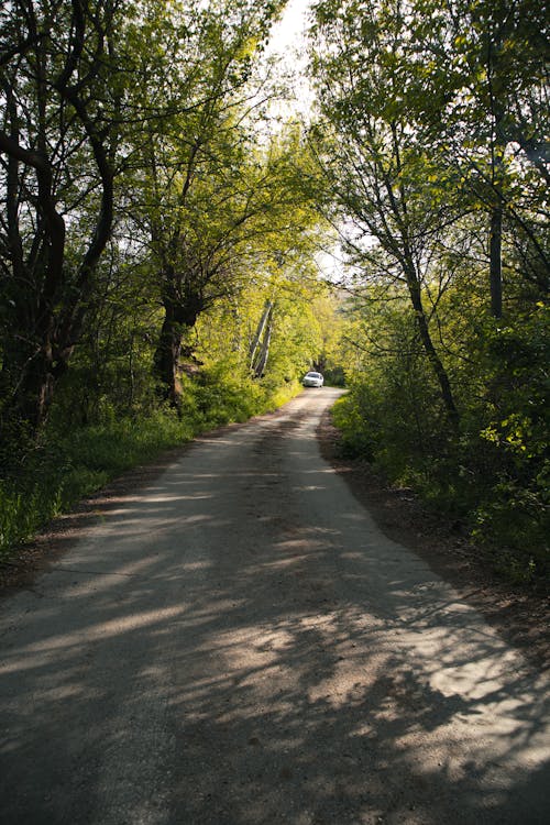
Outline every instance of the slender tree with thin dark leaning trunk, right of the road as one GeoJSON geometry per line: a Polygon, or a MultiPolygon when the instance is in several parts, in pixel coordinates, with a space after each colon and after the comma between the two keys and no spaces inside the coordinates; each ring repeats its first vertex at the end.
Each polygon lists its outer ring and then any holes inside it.
{"type": "Polygon", "coordinates": [[[432,164],[407,100],[408,23],[399,2],[321,0],[314,7],[311,72],[320,121],[312,129],[322,175],[362,268],[403,283],[449,420],[459,411],[438,352],[422,290],[450,206],[431,186],[432,164]]]}

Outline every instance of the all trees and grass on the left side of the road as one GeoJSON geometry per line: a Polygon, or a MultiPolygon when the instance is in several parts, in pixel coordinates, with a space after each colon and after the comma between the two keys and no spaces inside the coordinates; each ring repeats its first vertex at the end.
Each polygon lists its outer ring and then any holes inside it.
{"type": "Polygon", "coordinates": [[[311,160],[264,122],[283,6],[0,11],[1,557],[326,361],[311,160]]]}

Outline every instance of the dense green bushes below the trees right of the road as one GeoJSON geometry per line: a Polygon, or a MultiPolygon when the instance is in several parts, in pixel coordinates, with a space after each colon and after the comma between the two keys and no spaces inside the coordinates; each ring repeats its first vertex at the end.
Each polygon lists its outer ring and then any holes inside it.
{"type": "MultiPolygon", "coordinates": [[[[458,435],[437,411],[430,372],[413,352],[414,341],[408,351],[388,346],[392,333],[406,340],[406,318],[395,308],[382,317],[374,310],[363,315],[367,326],[353,321],[349,329],[362,346],[361,359],[349,360],[350,393],[333,413],[345,454],[372,462],[395,485],[413,487],[427,506],[461,525],[516,583],[544,580],[550,573],[548,309],[540,304],[506,326],[480,319],[475,333],[469,331],[468,363],[461,348],[449,358],[461,397],[458,435]]],[[[464,331],[452,315],[449,324],[454,334],[464,331]]]]}

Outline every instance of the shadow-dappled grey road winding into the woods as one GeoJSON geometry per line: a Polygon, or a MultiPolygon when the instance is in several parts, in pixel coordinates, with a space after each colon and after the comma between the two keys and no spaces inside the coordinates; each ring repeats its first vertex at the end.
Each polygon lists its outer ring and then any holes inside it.
{"type": "Polygon", "coordinates": [[[548,822],[548,674],[320,458],[198,440],[0,603],[2,825],[548,822]]]}

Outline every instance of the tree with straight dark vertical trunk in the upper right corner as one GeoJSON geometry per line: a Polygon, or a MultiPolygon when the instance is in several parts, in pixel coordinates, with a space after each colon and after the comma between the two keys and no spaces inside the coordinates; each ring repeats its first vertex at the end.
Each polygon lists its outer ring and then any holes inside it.
{"type": "Polygon", "coordinates": [[[541,267],[548,273],[539,211],[549,180],[544,9],[531,0],[417,0],[409,21],[416,121],[488,217],[491,312],[499,318],[508,230],[530,249],[524,277],[542,285],[541,267]]]}

